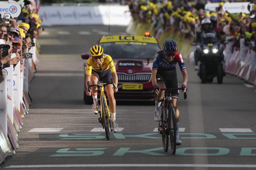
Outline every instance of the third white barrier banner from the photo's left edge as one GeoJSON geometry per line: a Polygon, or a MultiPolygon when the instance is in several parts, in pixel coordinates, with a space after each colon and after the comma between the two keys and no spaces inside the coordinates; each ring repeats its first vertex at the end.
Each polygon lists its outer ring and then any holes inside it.
{"type": "Polygon", "coordinates": [[[13,102],[15,101],[20,110],[20,61],[13,68],[13,102]]]}

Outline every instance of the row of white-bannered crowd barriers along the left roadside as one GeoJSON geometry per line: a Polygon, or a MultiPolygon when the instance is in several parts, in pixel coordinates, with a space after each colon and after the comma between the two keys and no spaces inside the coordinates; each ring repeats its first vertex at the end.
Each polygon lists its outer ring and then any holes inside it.
{"type": "MultiPolygon", "coordinates": [[[[36,39],[34,42],[36,44],[36,39]]],[[[0,164],[19,148],[18,133],[32,102],[29,86],[39,62],[38,51],[37,44],[31,47],[29,52],[33,57],[25,59],[25,70],[20,71],[20,62],[14,68],[11,65],[3,69],[4,81],[0,83],[0,164]],[[11,100],[7,99],[7,93],[11,100]]]]}

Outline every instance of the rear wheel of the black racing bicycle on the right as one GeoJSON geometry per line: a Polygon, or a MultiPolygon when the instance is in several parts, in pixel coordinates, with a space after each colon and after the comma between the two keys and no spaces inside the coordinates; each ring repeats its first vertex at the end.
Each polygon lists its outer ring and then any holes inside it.
{"type": "Polygon", "coordinates": [[[162,104],[162,113],[161,113],[161,125],[162,125],[162,140],[163,140],[163,146],[164,146],[164,152],[168,151],[168,145],[169,145],[169,130],[168,130],[168,109],[167,109],[167,102],[165,104],[162,104]]]}

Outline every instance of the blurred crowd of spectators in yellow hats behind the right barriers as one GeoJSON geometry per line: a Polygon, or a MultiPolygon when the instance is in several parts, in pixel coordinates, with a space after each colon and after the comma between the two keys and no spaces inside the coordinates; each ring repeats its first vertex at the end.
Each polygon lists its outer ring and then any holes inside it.
{"type": "MultiPolygon", "coordinates": [[[[228,37],[229,41],[234,42],[233,51],[239,50],[241,38],[245,38],[244,45],[256,50],[256,47],[251,45],[251,42],[256,39],[256,5],[248,14],[232,14],[223,11],[224,2],[219,2],[219,7],[215,11],[204,9],[205,4],[211,2],[202,0],[197,0],[196,3],[194,0],[129,0],[128,5],[132,18],[153,27],[155,32],[151,35],[155,37],[159,30],[172,29],[173,33],[179,31],[185,39],[195,40],[196,34],[201,30],[201,21],[208,18],[212,22],[212,29],[220,34],[221,39],[225,40],[228,37]]],[[[252,3],[256,4],[256,0],[253,0],[252,3]]]]}

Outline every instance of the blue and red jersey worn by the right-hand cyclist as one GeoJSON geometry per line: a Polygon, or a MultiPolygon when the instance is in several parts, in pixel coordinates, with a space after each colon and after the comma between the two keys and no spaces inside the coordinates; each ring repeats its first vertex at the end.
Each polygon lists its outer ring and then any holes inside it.
{"type": "Polygon", "coordinates": [[[158,70],[159,66],[162,67],[164,70],[176,70],[177,63],[179,63],[181,72],[186,71],[186,66],[180,53],[177,52],[174,59],[172,61],[168,61],[165,59],[164,52],[160,51],[156,53],[154,57],[152,70],[158,70]]]}

